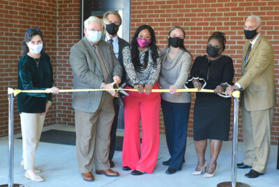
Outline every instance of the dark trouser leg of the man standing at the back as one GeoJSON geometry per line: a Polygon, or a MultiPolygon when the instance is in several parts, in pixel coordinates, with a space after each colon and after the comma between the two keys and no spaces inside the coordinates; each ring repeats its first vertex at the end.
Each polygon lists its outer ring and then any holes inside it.
{"type": "Polygon", "coordinates": [[[115,115],[114,115],[114,120],[112,122],[112,129],[110,131],[110,154],[109,154],[110,161],[112,160],[112,158],[114,156],[115,146],[116,146],[116,129],[117,129],[119,107],[120,107],[118,104],[117,98],[114,98],[113,104],[114,104],[115,115]]]}

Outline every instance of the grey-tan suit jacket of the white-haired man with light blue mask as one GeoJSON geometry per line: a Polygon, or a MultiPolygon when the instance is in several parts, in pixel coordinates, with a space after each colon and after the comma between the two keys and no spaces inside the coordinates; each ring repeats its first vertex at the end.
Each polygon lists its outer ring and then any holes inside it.
{"type": "MultiPolygon", "coordinates": [[[[98,46],[111,81],[114,75],[121,77],[123,68],[116,59],[110,44],[100,40],[98,46]]],[[[105,82],[96,52],[85,36],[70,49],[70,65],[73,70],[74,89],[99,89],[105,82]]],[[[100,105],[101,97],[101,91],[73,92],[73,108],[94,113],[100,105]]]]}

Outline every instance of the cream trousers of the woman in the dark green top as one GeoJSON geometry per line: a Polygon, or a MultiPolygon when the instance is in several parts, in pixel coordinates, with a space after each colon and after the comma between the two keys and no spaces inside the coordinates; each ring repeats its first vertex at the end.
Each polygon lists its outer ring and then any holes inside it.
{"type": "Polygon", "coordinates": [[[20,114],[20,122],[22,127],[22,158],[25,170],[34,169],[36,150],[38,148],[44,121],[45,114],[20,114]]]}

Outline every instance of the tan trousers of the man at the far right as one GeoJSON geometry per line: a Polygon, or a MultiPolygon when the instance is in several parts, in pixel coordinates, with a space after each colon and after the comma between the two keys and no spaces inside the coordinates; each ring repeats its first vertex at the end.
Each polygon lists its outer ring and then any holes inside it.
{"type": "Polygon", "coordinates": [[[252,166],[252,170],[265,173],[271,146],[273,108],[263,111],[246,111],[244,102],[241,107],[246,156],[243,163],[252,166]]]}

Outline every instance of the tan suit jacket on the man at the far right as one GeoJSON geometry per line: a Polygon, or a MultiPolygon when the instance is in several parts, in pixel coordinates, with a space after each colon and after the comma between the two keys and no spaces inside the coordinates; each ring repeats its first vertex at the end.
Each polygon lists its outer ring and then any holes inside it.
{"type": "Polygon", "coordinates": [[[259,35],[245,63],[249,42],[250,40],[247,40],[243,47],[241,79],[237,82],[244,89],[243,101],[246,110],[262,111],[275,106],[273,48],[262,34],[259,35]]]}

